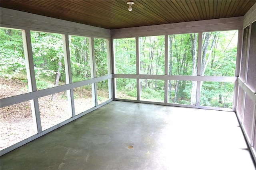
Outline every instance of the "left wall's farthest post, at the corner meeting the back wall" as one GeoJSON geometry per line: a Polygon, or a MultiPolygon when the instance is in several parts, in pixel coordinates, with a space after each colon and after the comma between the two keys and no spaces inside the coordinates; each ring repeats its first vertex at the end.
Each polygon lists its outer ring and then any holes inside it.
{"type": "MultiPolygon", "coordinates": [[[[112,44],[112,41],[110,41],[110,39],[107,39],[106,41],[107,43],[107,62],[108,62],[108,74],[112,74],[112,62],[111,62],[111,58],[110,56],[113,56],[111,55],[111,44],[112,44]]],[[[108,79],[108,99],[112,99],[113,96],[112,96],[112,80],[111,79],[108,79]]]]}

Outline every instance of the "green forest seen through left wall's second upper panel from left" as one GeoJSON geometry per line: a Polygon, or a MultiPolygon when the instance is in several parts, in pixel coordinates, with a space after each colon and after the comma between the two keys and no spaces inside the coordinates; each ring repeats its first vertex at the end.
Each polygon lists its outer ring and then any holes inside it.
{"type": "Polygon", "coordinates": [[[31,43],[37,90],[65,84],[62,35],[31,31],[31,43]]]}

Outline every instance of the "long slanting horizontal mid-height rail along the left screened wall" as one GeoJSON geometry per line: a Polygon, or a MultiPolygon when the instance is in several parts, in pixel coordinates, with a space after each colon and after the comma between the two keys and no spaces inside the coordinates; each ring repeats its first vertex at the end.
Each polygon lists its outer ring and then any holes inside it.
{"type": "Polygon", "coordinates": [[[112,74],[106,75],[106,76],[102,76],[102,77],[97,77],[97,78],[92,78],[89,80],[83,80],[80,82],[74,82],[74,83],[70,83],[70,84],[65,84],[62,86],[57,86],[57,87],[52,87],[52,88],[47,88],[47,89],[43,89],[43,90],[38,90],[36,92],[29,92],[29,93],[25,93],[25,94],[20,94],[17,96],[11,96],[8,98],[2,98],[0,99],[0,107],[6,107],[6,106],[10,106],[12,104],[18,104],[21,102],[26,102],[28,100],[33,100],[36,98],[40,98],[43,96],[48,96],[54,93],[59,93],[59,92],[63,92],[66,90],[70,90],[70,89],[74,89],[74,88],[78,88],[81,86],[86,86],[88,84],[93,84],[93,83],[97,83],[103,80],[108,80],[110,78],[113,78],[112,74]]]}

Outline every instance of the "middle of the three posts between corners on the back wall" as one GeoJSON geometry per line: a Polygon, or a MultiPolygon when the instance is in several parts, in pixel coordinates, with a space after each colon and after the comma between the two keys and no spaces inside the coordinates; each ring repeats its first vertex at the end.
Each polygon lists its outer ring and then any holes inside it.
{"type": "MultiPolygon", "coordinates": [[[[164,75],[168,75],[168,35],[164,35],[164,75]]],[[[168,103],[168,80],[164,80],[164,103],[168,103]]]]}

